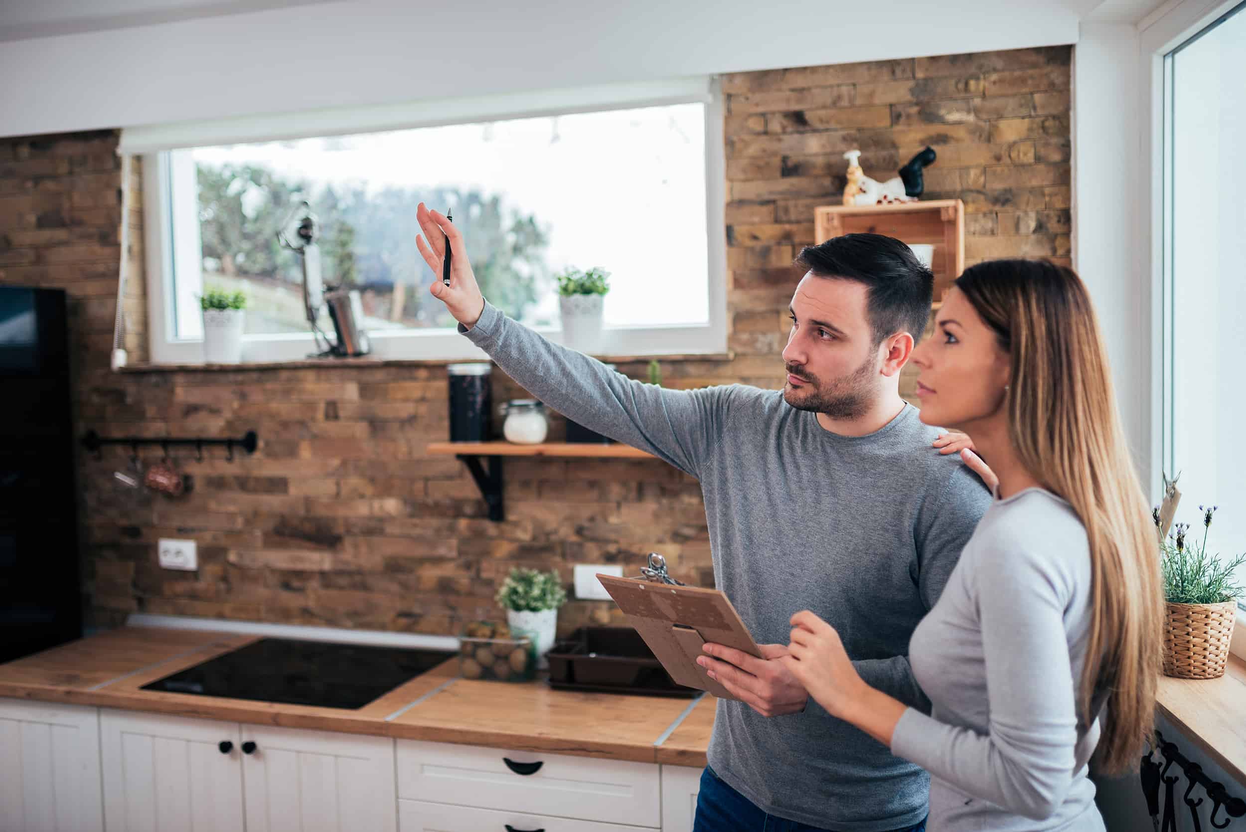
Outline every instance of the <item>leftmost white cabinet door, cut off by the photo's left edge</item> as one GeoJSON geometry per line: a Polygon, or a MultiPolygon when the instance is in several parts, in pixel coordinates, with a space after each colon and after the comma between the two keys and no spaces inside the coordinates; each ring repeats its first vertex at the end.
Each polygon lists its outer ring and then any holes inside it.
{"type": "Polygon", "coordinates": [[[0,699],[0,830],[103,830],[96,709],[0,699]]]}

